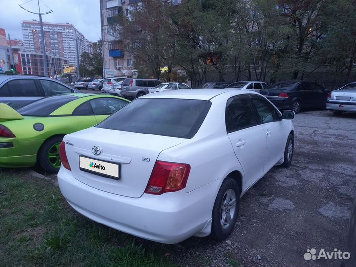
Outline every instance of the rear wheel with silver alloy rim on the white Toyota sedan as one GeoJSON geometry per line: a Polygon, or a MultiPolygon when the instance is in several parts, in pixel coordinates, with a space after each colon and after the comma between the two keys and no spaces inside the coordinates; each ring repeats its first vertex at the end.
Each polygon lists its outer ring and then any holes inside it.
{"type": "Polygon", "coordinates": [[[233,178],[226,178],[220,186],[212,212],[211,236],[223,241],[231,234],[240,209],[240,189],[233,178]],[[229,201],[227,201],[229,199],[229,201]],[[229,219],[230,218],[230,219],[229,219]]]}

